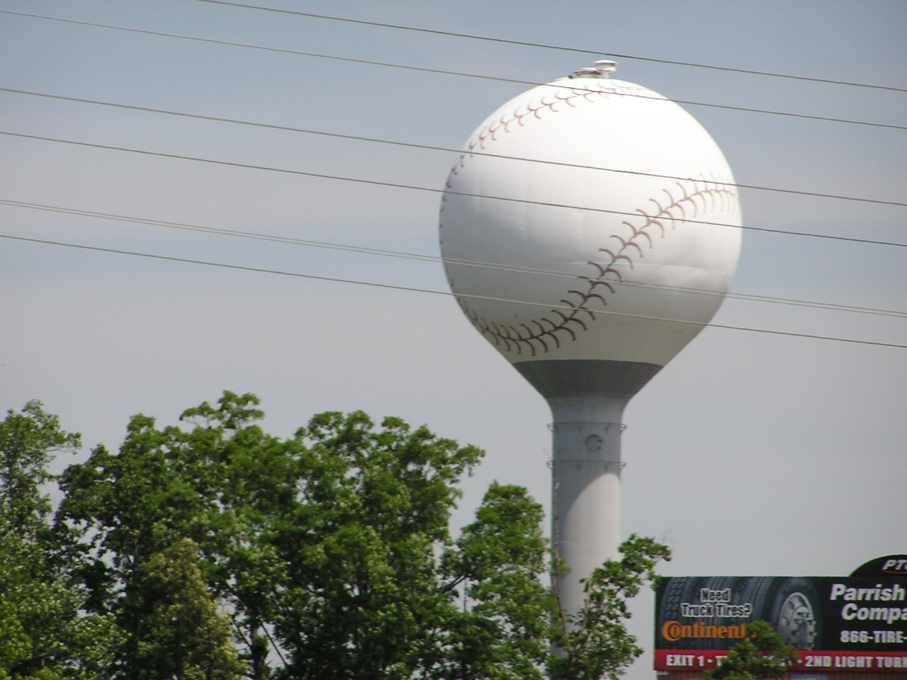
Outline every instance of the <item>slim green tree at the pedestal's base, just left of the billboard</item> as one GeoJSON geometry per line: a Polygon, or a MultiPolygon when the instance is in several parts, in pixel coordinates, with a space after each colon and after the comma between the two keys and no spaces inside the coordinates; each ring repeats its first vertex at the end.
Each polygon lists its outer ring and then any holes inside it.
{"type": "Polygon", "coordinates": [[[553,636],[560,653],[551,657],[551,680],[617,680],[642,648],[627,631],[629,598],[639,588],[658,585],[655,567],[670,550],[636,534],[621,544],[621,559],[609,559],[585,580],[586,602],[579,613],[562,617],[553,636]]]}

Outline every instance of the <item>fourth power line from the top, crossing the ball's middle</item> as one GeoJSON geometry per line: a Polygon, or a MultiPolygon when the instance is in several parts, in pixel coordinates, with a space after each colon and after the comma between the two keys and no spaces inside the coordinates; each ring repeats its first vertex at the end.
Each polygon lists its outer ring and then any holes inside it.
{"type": "MultiPolygon", "coordinates": [[[[289,170],[287,168],[274,168],[273,166],[268,165],[254,165],[251,163],[239,163],[232,160],[216,160],[216,159],[206,159],[200,158],[198,156],[184,156],[177,153],[166,153],[164,151],[145,151],[142,149],[130,149],[128,147],[121,146],[112,146],[110,144],[97,144],[89,141],[74,141],[74,140],[62,140],[56,139],[53,137],[43,137],[41,135],[34,134],[24,134],[22,132],[9,132],[9,131],[0,131],[0,135],[6,135],[8,137],[18,137],[25,140],[40,140],[40,141],[51,141],[59,144],[72,144],[73,146],[83,146],[91,149],[104,149],[108,151],[126,151],[129,153],[137,153],[143,156],[155,156],[158,158],[168,158],[174,160],[193,160],[200,163],[210,163],[212,165],[222,165],[230,168],[244,168],[247,170],[267,170],[269,172],[280,172],[282,174],[288,175],[297,175],[299,177],[314,177],[321,180],[336,180],[336,181],[345,181],[353,182],[356,184],[370,184],[376,187],[388,187],[394,189],[409,189],[413,191],[427,191],[435,194],[446,193],[452,196],[465,196],[474,199],[489,199],[489,200],[502,200],[512,203],[525,203],[528,205],[538,205],[538,206],[547,206],[549,208],[568,208],[575,210],[587,210],[589,212],[600,212],[606,213],[609,215],[626,215],[629,217],[639,217],[639,213],[633,212],[623,212],[621,210],[608,210],[603,208],[584,208],[581,206],[571,206],[564,203],[551,203],[541,200],[529,200],[529,199],[511,199],[503,196],[483,196],[482,194],[473,194],[467,193],[464,191],[451,191],[449,189],[436,189],[434,187],[419,187],[414,184],[400,184],[397,182],[387,182],[387,181],[378,181],[378,180],[363,180],[356,177],[344,177],[342,175],[327,175],[322,172],[307,172],[306,170],[289,170]]],[[[892,246],[896,248],[907,248],[907,243],[896,243],[894,241],[879,241],[873,240],[870,238],[853,238],[853,237],[844,237],[844,236],[832,236],[831,234],[811,234],[805,231],[790,231],[787,229],[770,229],[766,227],[752,227],[748,225],[736,225],[736,224],[727,224],[724,222],[710,222],[704,219],[685,219],[684,221],[690,224],[705,224],[714,227],[731,227],[731,228],[741,228],[748,231],[760,231],[766,234],[784,234],[786,236],[802,236],[808,238],[826,238],[834,241],[847,241],[850,243],[863,243],[873,246],[892,246]]]]}

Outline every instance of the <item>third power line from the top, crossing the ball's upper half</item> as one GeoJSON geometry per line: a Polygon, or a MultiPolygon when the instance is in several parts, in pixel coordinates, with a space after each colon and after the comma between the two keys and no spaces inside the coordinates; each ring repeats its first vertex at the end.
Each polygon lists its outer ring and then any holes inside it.
{"type": "MultiPolygon", "coordinates": [[[[124,109],[127,111],[161,113],[161,114],[165,114],[165,115],[178,116],[180,118],[190,118],[193,120],[200,120],[200,121],[227,122],[227,123],[231,123],[231,124],[235,124],[235,125],[245,125],[245,126],[249,126],[249,127],[263,128],[263,129],[267,129],[267,130],[300,132],[303,134],[319,135],[322,137],[331,137],[331,138],[341,139],[341,140],[369,141],[369,142],[374,142],[376,144],[387,144],[387,145],[391,145],[391,146],[406,147],[408,149],[420,149],[420,150],[424,150],[424,151],[444,151],[444,152],[449,152],[449,153],[463,152],[463,150],[461,150],[461,149],[453,149],[452,147],[434,146],[431,144],[416,144],[416,143],[407,142],[407,141],[384,140],[384,139],[379,139],[379,138],[375,138],[375,137],[364,137],[361,135],[342,134],[340,132],[327,132],[327,131],[321,131],[321,130],[311,130],[311,129],[307,129],[307,128],[297,128],[297,127],[292,127],[289,125],[276,125],[276,124],[264,123],[264,122],[243,121],[243,120],[239,120],[239,119],[235,119],[235,118],[224,118],[224,117],[220,117],[220,116],[210,116],[210,115],[203,115],[203,114],[198,114],[198,113],[186,113],[186,112],[179,112],[179,111],[171,111],[169,109],[157,109],[157,108],[153,108],[150,106],[122,104],[122,103],[118,103],[118,102],[104,102],[104,101],[95,100],[95,99],[83,99],[81,97],[67,97],[62,94],[48,94],[46,92],[31,92],[28,90],[16,90],[16,89],[10,88],[10,87],[0,87],[0,92],[11,92],[14,94],[24,94],[24,95],[28,95],[28,96],[34,96],[34,97],[44,97],[47,99],[54,99],[54,100],[63,101],[63,102],[79,102],[79,103],[86,103],[86,104],[96,104],[99,106],[109,106],[112,108],[124,109]]],[[[471,156],[487,156],[489,158],[497,158],[497,159],[502,159],[502,160],[522,160],[525,162],[539,163],[541,165],[557,165],[557,166],[561,166],[564,168],[577,168],[580,170],[602,170],[602,171],[606,171],[606,172],[617,172],[617,173],[629,174],[629,175],[639,175],[639,176],[643,176],[643,177],[658,177],[658,178],[664,178],[666,180],[692,180],[692,178],[688,178],[688,177],[677,177],[674,175],[659,175],[654,172],[641,172],[639,170],[618,170],[616,168],[600,168],[598,166],[580,165],[580,164],[576,164],[576,163],[561,163],[561,162],[557,162],[555,160],[540,160],[540,159],[531,159],[531,158],[521,158],[519,156],[504,156],[501,154],[489,153],[487,151],[469,151],[469,154],[471,156]]],[[[858,201],[858,202],[862,202],[862,203],[872,203],[875,205],[897,206],[897,207],[901,207],[901,208],[907,208],[907,203],[902,203],[902,202],[896,201],[896,200],[865,199],[865,198],[855,197],[855,196],[843,196],[841,194],[828,194],[828,193],[821,193],[821,192],[817,192],[817,191],[804,191],[804,190],[800,190],[800,189],[781,189],[778,187],[765,187],[765,186],[760,186],[760,185],[756,185],[756,184],[739,184],[739,183],[733,183],[733,182],[722,182],[722,181],[717,181],[717,180],[714,181],[713,183],[720,185],[720,186],[725,186],[725,187],[736,187],[737,189],[756,189],[756,190],[760,190],[760,191],[773,191],[776,193],[793,194],[795,196],[807,196],[807,197],[819,198],[819,199],[852,200],[852,201],[858,201]]]]}

